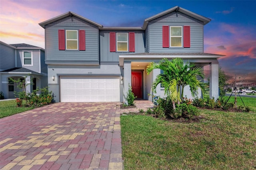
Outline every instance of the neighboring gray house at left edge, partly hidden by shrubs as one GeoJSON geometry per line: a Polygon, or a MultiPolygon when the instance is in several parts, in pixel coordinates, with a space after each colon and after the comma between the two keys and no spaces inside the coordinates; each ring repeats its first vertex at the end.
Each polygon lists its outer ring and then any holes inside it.
{"type": "Polygon", "coordinates": [[[5,99],[15,98],[14,91],[20,91],[10,78],[22,80],[26,77],[27,84],[32,79],[33,84],[26,86],[27,92],[47,86],[44,53],[44,49],[33,45],[8,45],[0,41],[0,91],[4,93],[5,99]]]}

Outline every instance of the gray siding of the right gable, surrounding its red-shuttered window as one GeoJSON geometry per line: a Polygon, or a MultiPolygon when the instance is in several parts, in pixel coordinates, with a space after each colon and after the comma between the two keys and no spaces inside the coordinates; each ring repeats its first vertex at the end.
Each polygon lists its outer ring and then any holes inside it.
{"type": "MultiPolygon", "coordinates": [[[[150,53],[203,53],[204,52],[204,25],[181,12],[171,12],[148,23],[150,53]],[[190,26],[190,48],[183,47],[162,47],[162,26],[190,26]]],[[[169,38],[170,39],[170,38],[169,38]]]]}

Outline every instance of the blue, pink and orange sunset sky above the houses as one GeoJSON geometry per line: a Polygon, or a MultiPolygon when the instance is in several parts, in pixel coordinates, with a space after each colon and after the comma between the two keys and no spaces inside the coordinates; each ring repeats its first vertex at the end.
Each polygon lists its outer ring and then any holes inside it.
{"type": "Polygon", "coordinates": [[[210,18],[204,26],[204,52],[218,59],[229,76],[256,81],[256,0],[0,0],[0,41],[44,48],[38,25],[68,11],[105,27],[141,27],[146,18],[180,6],[210,18]]]}

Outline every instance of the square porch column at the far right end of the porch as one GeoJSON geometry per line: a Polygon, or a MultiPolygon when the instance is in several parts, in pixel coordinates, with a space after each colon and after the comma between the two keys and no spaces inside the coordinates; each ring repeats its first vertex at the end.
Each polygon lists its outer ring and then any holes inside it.
{"type": "Polygon", "coordinates": [[[210,63],[210,98],[219,98],[219,63],[210,63]]]}

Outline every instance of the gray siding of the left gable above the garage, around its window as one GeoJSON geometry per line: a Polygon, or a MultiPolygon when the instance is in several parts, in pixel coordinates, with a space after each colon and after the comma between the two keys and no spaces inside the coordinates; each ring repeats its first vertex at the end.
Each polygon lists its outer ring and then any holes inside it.
{"type": "MultiPolygon", "coordinates": [[[[99,30],[96,25],[76,17],[66,17],[45,26],[46,62],[51,61],[99,61],[99,30]],[[58,30],[85,30],[85,51],[59,50],[58,30]]],[[[50,63],[49,63],[50,64],[50,63]]]]}

